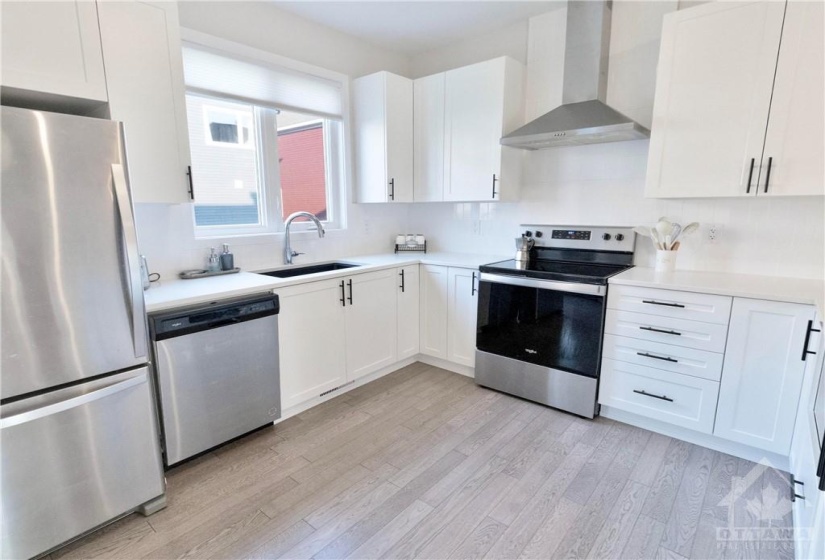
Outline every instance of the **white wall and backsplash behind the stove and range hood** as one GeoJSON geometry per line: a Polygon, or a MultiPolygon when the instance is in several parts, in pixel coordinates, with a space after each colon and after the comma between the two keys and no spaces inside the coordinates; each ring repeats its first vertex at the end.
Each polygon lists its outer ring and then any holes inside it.
{"type": "MultiPolygon", "coordinates": [[[[613,3],[608,102],[645,125],[652,113],[661,18],[676,8],[675,0],[613,3]]],[[[553,70],[563,66],[559,16],[551,12],[531,18],[529,24],[527,100],[533,116],[560,100],[560,77],[553,70]]],[[[509,54],[505,44],[499,47],[499,52],[487,50],[484,57],[509,54]]],[[[459,45],[428,56],[453,60],[464,52],[459,45]]],[[[462,63],[480,60],[464,57],[462,63]]],[[[413,59],[413,68],[422,66],[413,59]]],[[[414,204],[408,227],[428,235],[435,250],[510,255],[520,223],[633,226],[652,224],[666,215],[704,225],[700,233],[685,239],[679,268],[822,277],[822,197],[646,199],[647,151],[648,141],[642,140],[529,152],[520,202],[414,204]],[[705,236],[710,223],[722,226],[715,243],[705,236]]],[[[642,266],[653,265],[653,250],[646,240],[640,240],[636,260],[642,266]]]]}

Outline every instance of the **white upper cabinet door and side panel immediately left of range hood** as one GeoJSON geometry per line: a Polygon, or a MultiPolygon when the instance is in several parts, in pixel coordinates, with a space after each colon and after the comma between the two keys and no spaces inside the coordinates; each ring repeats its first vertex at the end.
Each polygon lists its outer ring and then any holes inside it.
{"type": "Polygon", "coordinates": [[[515,200],[522,151],[501,137],[524,120],[524,67],[500,57],[446,73],[444,200],[515,200]]]}

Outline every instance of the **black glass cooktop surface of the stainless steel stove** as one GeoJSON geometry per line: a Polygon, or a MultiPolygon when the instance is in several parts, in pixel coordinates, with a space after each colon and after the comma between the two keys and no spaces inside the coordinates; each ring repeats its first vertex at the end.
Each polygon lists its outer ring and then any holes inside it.
{"type": "Polygon", "coordinates": [[[579,282],[583,284],[607,284],[607,279],[630,265],[591,264],[581,262],[534,259],[525,268],[515,259],[483,265],[481,272],[506,274],[508,276],[526,276],[542,280],[560,282],[579,282]]]}

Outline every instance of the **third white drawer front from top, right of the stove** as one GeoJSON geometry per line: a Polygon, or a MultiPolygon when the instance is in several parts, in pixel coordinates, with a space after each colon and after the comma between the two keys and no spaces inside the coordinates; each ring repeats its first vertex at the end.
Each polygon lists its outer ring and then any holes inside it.
{"type": "Polygon", "coordinates": [[[724,354],[613,334],[604,335],[605,358],[664,369],[710,381],[722,378],[724,354]]]}

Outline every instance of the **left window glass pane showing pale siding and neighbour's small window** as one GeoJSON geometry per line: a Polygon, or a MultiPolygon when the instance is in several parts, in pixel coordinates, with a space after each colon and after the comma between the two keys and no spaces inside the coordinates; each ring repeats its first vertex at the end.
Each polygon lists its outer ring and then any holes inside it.
{"type": "Polygon", "coordinates": [[[261,193],[251,105],[186,96],[195,225],[261,224],[261,193]]]}

